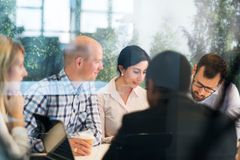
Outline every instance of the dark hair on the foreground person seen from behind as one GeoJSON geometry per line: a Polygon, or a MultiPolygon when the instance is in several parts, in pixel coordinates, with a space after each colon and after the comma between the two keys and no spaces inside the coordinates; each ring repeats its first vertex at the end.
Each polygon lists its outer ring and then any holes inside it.
{"type": "Polygon", "coordinates": [[[164,51],[150,62],[146,79],[151,80],[154,87],[173,92],[187,92],[190,86],[191,66],[182,54],[164,51]]]}

